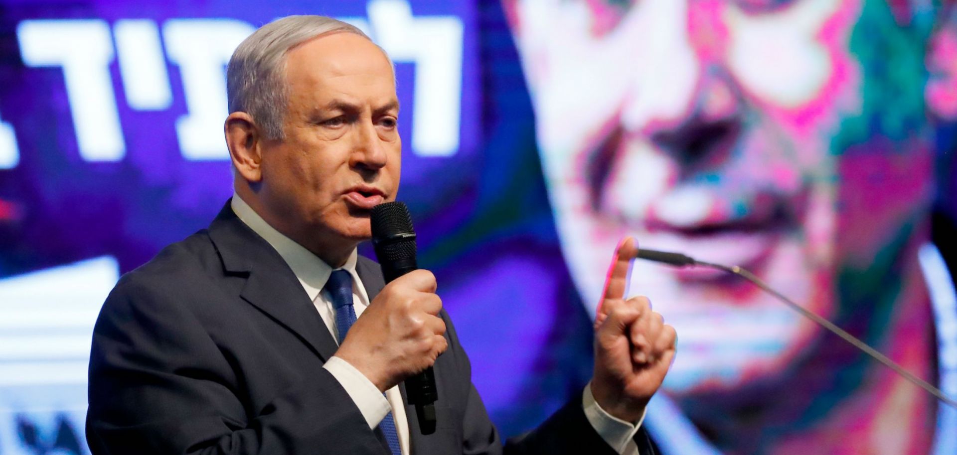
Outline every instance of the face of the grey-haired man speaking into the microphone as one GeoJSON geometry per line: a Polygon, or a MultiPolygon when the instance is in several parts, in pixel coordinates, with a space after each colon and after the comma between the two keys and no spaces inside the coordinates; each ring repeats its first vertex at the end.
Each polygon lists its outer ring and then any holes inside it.
{"type": "Polygon", "coordinates": [[[366,38],[322,35],[286,54],[285,138],[266,141],[261,197],[302,239],[359,242],[395,199],[401,141],[389,60],[366,38]]]}

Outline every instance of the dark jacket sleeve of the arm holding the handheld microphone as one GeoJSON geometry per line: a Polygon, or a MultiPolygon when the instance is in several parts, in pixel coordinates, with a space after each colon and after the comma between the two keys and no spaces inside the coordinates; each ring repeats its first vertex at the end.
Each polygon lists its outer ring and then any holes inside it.
{"type": "Polygon", "coordinates": [[[261,409],[248,408],[230,353],[189,311],[183,292],[140,281],[123,277],[94,329],[86,422],[92,453],[382,453],[325,370],[261,409]]]}

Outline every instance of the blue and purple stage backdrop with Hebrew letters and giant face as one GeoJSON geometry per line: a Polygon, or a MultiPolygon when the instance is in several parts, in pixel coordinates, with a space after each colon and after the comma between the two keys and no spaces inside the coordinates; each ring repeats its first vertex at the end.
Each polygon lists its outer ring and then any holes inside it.
{"type": "MultiPolygon", "coordinates": [[[[752,267],[957,395],[946,2],[0,0],[0,455],[89,452],[102,300],[232,195],[225,64],[294,13],[395,62],[399,199],[505,436],[580,396],[629,234],[752,267]]],[[[957,410],[753,290],[631,290],[679,331],[666,453],[957,453],[957,410]]]]}

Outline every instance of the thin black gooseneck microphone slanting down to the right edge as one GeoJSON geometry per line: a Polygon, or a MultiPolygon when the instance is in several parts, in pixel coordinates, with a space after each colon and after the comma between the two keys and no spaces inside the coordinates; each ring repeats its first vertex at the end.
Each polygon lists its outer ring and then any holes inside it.
{"type": "Polygon", "coordinates": [[[804,307],[798,305],[797,303],[794,303],[793,300],[786,297],[783,293],[774,291],[773,288],[768,286],[768,283],[765,283],[761,278],[758,278],[757,276],[754,275],[754,273],[751,273],[750,271],[746,271],[745,269],[742,269],[738,266],[723,266],[721,264],[712,264],[710,262],[699,261],[695,258],[686,256],[678,252],[657,251],[655,249],[638,249],[638,253],[634,257],[637,259],[645,259],[648,261],[660,262],[660,263],[668,264],[670,266],[675,266],[675,267],[702,266],[702,267],[707,267],[710,269],[716,269],[719,271],[727,271],[728,273],[733,273],[738,276],[741,276],[742,278],[745,278],[747,281],[750,281],[751,283],[753,283],[758,288],[761,288],[763,291],[768,292],[769,294],[777,297],[778,300],[781,300],[786,305],[788,305],[791,310],[794,310],[795,312],[803,315],[804,317],[811,319],[812,321],[817,323],[817,325],[831,331],[831,333],[835,334],[836,336],[840,336],[842,339],[854,345],[854,347],[859,349],[864,354],[867,354],[868,356],[873,357],[875,360],[878,360],[880,363],[883,363],[885,366],[887,366],[891,370],[894,370],[894,372],[897,373],[898,375],[901,375],[903,379],[907,379],[910,383],[918,387],[921,387],[928,394],[933,395],[935,398],[937,398],[937,400],[940,400],[953,408],[957,408],[957,401],[944,395],[944,392],[942,392],[941,389],[934,387],[933,385],[931,385],[929,382],[925,381],[924,379],[920,379],[917,376],[915,376],[913,373],[905,370],[901,365],[899,365],[894,360],[891,360],[889,357],[884,356],[883,354],[880,354],[880,352],[877,349],[874,349],[871,346],[869,346],[867,343],[861,341],[860,339],[857,339],[856,336],[848,334],[847,331],[845,331],[844,329],[837,327],[835,323],[806,310],[804,307]]]}

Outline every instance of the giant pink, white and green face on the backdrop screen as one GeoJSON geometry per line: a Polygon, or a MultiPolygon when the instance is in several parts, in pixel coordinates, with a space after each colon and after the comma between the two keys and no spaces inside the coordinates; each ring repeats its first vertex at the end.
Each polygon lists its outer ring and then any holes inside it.
{"type": "MultiPolygon", "coordinates": [[[[923,47],[900,32],[869,41],[898,25],[883,3],[520,0],[506,10],[563,248],[592,312],[610,252],[634,235],[745,267],[837,317],[842,269],[868,267],[925,205],[923,47]],[[916,59],[883,59],[895,45],[916,59]],[[898,83],[916,89],[880,93],[898,83]],[[885,115],[890,104],[901,112],[885,115]]],[[[817,335],[710,271],[636,263],[631,292],[680,334],[665,383],[675,393],[767,378],[817,335]]]]}

